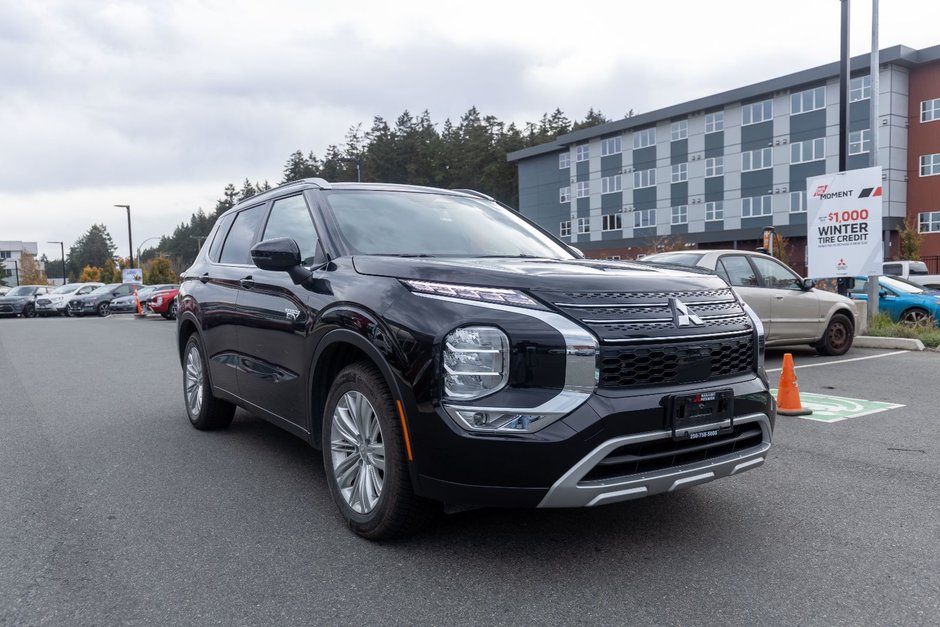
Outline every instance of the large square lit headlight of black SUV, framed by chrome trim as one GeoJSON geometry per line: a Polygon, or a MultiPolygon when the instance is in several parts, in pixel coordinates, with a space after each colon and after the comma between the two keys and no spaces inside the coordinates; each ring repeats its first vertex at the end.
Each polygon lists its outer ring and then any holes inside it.
{"type": "Polygon", "coordinates": [[[509,380],[509,338],[495,327],[463,327],[444,338],[444,396],[473,400],[509,380]]]}

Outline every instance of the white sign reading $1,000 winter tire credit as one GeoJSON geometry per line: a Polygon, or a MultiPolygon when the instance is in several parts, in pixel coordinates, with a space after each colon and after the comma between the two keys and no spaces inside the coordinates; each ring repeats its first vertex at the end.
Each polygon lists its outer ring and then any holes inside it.
{"type": "Polygon", "coordinates": [[[881,274],[881,167],[806,179],[811,277],[881,274]]]}

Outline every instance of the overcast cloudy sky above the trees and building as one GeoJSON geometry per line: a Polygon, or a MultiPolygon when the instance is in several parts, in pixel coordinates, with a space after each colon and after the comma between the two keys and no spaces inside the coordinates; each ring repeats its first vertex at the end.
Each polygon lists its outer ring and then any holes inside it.
{"type": "MultiPolygon", "coordinates": [[[[883,0],[881,47],[940,44],[940,2],[883,0]]],[[[0,0],[0,240],[127,254],[226,183],[280,181],[358,123],[471,106],[648,112],[837,61],[839,0],[0,0]]],[[[871,3],[852,3],[852,54],[871,3]]],[[[148,245],[154,244],[155,241],[148,245]]],[[[136,254],[136,251],[135,251],[136,254]]]]}

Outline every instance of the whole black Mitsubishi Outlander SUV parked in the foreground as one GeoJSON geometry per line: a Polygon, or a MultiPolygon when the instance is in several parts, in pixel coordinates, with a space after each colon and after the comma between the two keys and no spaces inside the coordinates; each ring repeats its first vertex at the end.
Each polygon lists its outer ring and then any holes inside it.
{"type": "Polygon", "coordinates": [[[189,419],[235,406],[323,451],[349,526],[593,506],[761,465],[763,329],[728,285],[581,258],[474,192],[290,183],[183,274],[189,419]]]}

